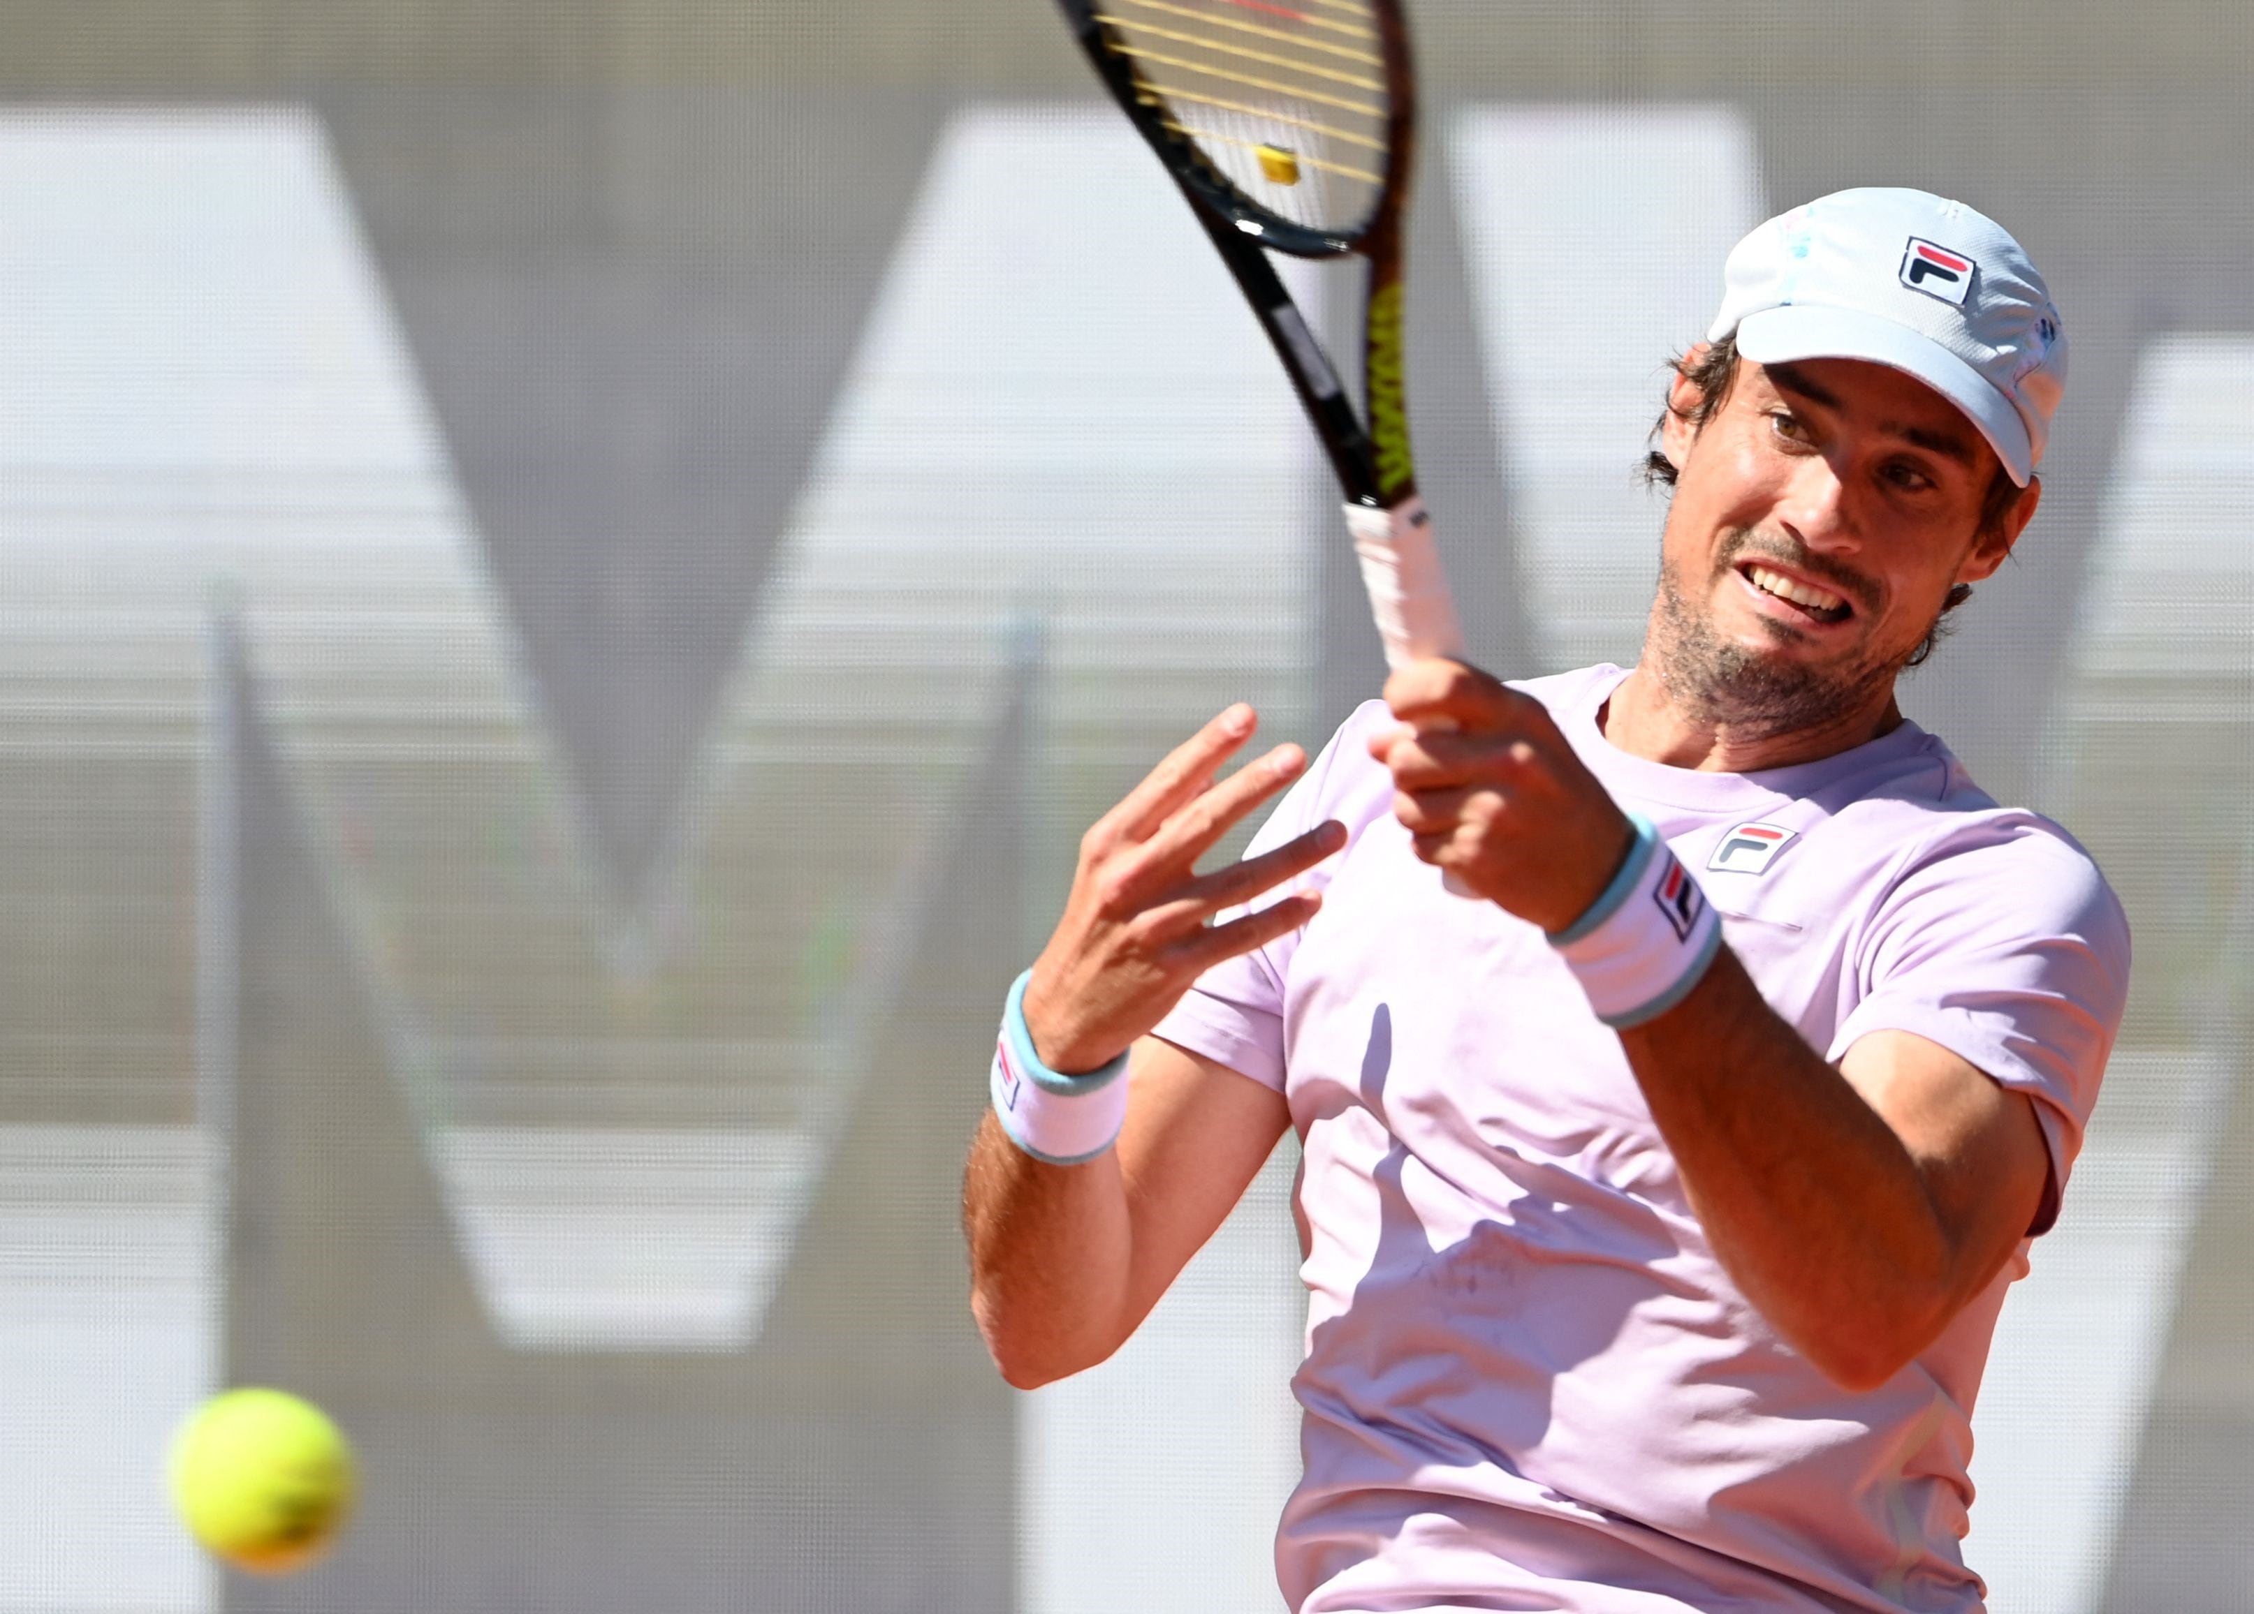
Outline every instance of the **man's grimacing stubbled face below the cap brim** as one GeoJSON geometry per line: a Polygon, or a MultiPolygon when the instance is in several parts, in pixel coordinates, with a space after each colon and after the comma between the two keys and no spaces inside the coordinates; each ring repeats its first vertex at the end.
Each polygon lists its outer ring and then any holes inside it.
{"type": "Polygon", "coordinates": [[[1995,449],[1945,397],[1857,358],[1738,363],[1693,428],[1677,381],[1677,467],[1652,660],[1713,721],[1794,733],[1884,710],[1956,584],[2002,566],[2035,512],[2029,487],[1979,532],[1995,449]]]}

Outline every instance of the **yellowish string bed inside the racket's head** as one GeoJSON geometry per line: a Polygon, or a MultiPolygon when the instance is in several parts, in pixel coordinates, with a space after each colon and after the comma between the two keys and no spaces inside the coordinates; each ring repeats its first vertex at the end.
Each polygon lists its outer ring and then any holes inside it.
{"type": "Polygon", "coordinates": [[[1249,201],[1357,234],[1384,192],[1386,56],[1370,0],[1098,0],[1143,101],[1249,201]]]}

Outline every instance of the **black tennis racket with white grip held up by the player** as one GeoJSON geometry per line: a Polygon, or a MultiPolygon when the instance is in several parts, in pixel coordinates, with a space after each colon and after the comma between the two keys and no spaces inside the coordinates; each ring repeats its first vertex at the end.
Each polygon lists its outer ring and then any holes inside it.
{"type": "Polygon", "coordinates": [[[1386,663],[1463,649],[1402,394],[1416,74],[1395,0],[1057,0],[1260,318],[1346,494],[1386,663]],[[1368,426],[1267,252],[1361,257],[1368,426]]]}

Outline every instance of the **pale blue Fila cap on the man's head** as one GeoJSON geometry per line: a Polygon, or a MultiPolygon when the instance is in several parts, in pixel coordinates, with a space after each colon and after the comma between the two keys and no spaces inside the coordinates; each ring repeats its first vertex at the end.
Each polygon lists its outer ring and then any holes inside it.
{"type": "Polygon", "coordinates": [[[1961,408],[2026,487],[2067,390],[2067,331],[2011,232],[1911,189],[1819,196],[1729,252],[1709,343],[1760,365],[1869,358],[1961,408]]]}

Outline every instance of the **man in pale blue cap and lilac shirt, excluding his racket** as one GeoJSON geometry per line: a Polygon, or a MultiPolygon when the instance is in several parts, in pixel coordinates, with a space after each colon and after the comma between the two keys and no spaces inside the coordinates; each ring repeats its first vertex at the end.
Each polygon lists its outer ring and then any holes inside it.
{"type": "Polygon", "coordinates": [[[1724,282],[1634,667],[1413,663],[1215,782],[1222,712],[1010,994],[965,1208],[1012,1384],[1111,1355],[1301,1136],[1301,1614],[1981,1607],[1972,1400],[2130,947],[1896,679],[2035,514],[2067,343],[1923,192],[1724,282]]]}

